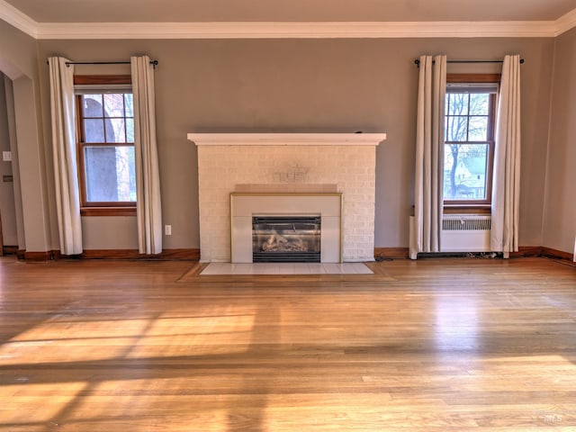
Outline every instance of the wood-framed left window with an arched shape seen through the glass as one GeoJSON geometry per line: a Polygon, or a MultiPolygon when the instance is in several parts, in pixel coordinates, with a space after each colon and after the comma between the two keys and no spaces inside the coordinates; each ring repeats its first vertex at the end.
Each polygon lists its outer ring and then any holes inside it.
{"type": "Polygon", "coordinates": [[[75,76],[81,212],[136,208],[130,76],[75,76]]]}

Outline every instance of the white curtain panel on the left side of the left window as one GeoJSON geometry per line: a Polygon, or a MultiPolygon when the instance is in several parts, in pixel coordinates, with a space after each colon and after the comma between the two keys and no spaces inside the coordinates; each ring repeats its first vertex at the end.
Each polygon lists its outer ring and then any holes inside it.
{"type": "Polygon", "coordinates": [[[60,254],[82,253],[82,226],[76,165],[76,103],[74,66],[67,58],[51,57],[49,63],[52,152],[58,212],[60,254]]]}

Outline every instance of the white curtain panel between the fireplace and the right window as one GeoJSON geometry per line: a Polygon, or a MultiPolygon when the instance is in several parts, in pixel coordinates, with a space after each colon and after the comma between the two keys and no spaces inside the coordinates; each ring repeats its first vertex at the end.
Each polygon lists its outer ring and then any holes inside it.
{"type": "Polygon", "coordinates": [[[443,208],[446,56],[421,56],[416,132],[417,252],[439,252],[443,208]]]}

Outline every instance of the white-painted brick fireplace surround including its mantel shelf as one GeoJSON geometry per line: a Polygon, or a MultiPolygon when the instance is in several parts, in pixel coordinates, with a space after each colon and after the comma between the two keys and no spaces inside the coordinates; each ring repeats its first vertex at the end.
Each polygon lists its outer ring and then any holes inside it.
{"type": "Polygon", "coordinates": [[[202,262],[232,257],[231,193],[278,193],[284,201],[291,193],[341,194],[339,257],[374,260],[375,148],[385,134],[189,133],[188,139],[198,146],[202,262]]]}

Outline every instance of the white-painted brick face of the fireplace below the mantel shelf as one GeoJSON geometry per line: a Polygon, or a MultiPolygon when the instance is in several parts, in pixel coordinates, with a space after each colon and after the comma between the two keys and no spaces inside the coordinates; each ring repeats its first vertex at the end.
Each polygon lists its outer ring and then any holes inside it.
{"type": "Polygon", "coordinates": [[[229,193],[240,184],[337,184],[344,195],[344,261],[374,260],[374,146],[198,147],[202,261],[230,259],[229,193]],[[305,176],[288,178],[294,166],[305,176]]]}

